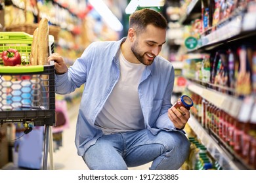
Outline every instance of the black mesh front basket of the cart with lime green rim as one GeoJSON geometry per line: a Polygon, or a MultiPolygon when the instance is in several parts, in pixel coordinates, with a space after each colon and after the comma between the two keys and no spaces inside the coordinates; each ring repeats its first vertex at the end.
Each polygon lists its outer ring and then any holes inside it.
{"type": "Polygon", "coordinates": [[[27,121],[55,125],[54,65],[0,67],[0,123],[27,121]]]}

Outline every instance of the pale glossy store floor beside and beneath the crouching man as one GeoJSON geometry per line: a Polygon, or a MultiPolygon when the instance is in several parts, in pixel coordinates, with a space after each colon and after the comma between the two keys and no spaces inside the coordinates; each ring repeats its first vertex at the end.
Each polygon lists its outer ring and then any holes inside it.
{"type": "MultiPolygon", "coordinates": [[[[88,170],[83,159],[77,155],[75,148],[75,125],[79,105],[74,105],[68,111],[70,127],[64,129],[62,134],[62,146],[53,154],[54,169],[58,170],[88,170]]],[[[48,158],[49,161],[49,158],[48,158]]],[[[148,170],[151,163],[130,168],[132,170],[148,170]]],[[[49,165],[49,162],[48,162],[49,165]]]]}

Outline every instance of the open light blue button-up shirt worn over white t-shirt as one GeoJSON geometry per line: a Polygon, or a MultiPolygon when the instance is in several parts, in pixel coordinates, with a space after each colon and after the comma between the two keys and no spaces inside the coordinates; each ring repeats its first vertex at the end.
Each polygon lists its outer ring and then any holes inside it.
{"type": "MultiPolygon", "coordinates": [[[[95,120],[119,80],[118,57],[121,42],[125,39],[93,42],[67,73],[56,75],[56,93],[59,94],[74,92],[75,88],[85,84],[75,134],[79,156],[83,156],[87,148],[102,136],[102,131],[95,126],[95,120]]],[[[167,116],[174,79],[173,65],[161,56],[156,56],[152,65],[148,65],[142,73],[138,87],[139,100],[145,126],[154,135],[161,129],[176,131],[167,116]]]]}

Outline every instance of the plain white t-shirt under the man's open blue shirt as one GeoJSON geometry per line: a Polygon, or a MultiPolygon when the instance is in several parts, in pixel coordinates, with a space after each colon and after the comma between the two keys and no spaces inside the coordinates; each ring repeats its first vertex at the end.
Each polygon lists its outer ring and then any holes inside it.
{"type": "Polygon", "coordinates": [[[120,51],[119,81],[96,118],[104,134],[144,129],[138,86],[146,65],[127,61],[120,51]]]}

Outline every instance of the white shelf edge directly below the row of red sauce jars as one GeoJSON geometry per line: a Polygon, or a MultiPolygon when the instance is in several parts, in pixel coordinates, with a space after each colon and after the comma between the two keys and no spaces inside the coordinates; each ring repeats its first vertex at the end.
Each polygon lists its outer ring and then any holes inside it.
{"type": "Polygon", "coordinates": [[[234,156],[228,154],[228,152],[222,148],[217,141],[205,129],[198,123],[194,116],[190,116],[188,125],[192,128],[194,133],[198,136],[198,139],[202,141],[202,144],[207,148],[211,156],[219,162],[219,165],[225,170],[240,170],[247,169],[239,161],[234,161],[234,156]]]}

